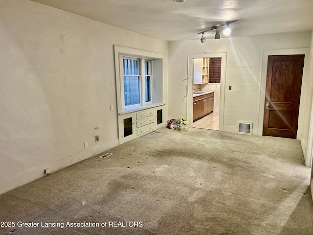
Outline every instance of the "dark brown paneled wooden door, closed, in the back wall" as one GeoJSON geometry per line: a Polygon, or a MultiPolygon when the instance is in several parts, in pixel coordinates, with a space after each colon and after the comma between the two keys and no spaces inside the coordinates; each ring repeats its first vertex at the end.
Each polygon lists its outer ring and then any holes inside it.
{"type": "Polygon", "coordinates": [[[304,55],[268,56],[263,135],[295,139],[304,55]]]}

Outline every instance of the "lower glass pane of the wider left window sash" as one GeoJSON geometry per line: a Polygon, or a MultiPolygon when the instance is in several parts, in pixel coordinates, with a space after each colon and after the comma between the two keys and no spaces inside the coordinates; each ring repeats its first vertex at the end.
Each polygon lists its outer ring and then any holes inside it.
{"type": "Polygon", "coordinates": [[[140,79],[139,76],[124,77],[125,106],[140,104],[140,79]]]}

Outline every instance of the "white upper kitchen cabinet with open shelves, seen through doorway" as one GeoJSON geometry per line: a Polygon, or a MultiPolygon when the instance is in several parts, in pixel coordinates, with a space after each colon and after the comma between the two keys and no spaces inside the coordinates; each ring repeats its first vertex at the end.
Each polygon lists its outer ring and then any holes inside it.
{"type": "Polygon", "coordinates": [[[210,58],[194,59],[194,84],[209,82],[209,60],[210,58]]]}

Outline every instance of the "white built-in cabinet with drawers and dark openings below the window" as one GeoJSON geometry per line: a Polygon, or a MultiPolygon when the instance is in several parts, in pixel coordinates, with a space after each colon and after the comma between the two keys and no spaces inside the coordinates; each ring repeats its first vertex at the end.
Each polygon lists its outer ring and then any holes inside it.
{"type": "Polygon", "coordinates": [[[162,109],[150,108],[119,115],[119,143],[149,133],[162,125],[162,109]]]}

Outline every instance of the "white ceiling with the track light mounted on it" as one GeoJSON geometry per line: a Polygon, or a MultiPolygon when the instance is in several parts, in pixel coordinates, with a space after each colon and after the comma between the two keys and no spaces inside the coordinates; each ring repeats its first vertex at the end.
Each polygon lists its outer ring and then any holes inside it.
{"type": "Polygon", "coordinates": [[[239,20],[233,37],[313,29],[313,0],[33,1],[166,41],[199,39],[198,32],[231,20],[239,20]]]}

